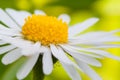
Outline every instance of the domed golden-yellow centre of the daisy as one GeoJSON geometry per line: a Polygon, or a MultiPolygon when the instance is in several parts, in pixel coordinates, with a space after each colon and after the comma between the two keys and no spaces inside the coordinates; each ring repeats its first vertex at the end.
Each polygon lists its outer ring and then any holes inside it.
{"type": "Polygon", "coordinates": [[[32,15],[25,19],[22,34],[25,39],[40,41],[42,45],[66,43],[68,25],[56,17],[32,15]]]}

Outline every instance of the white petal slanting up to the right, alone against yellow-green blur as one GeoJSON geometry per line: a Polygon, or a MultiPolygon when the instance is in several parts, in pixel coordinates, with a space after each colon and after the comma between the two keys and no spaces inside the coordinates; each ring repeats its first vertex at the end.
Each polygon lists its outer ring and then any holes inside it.
{"type": "Polygon", "coordinates": [[[99,20],[98,18],[90,18],[82,23],[71,26],[68,31],[69,36],[74,36],[78,33],[83,32],[84,30],[88,29],[90,26],[94,25],[98,20],[99,20]]]}

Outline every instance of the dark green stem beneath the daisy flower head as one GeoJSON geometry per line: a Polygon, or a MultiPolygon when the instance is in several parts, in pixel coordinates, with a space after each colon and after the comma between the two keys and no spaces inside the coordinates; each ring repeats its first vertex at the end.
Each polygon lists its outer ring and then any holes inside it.
{"type": "Polygon", "coordinates": [[[42,55],[39,56],[39,59],[33,68],[33,80],[44,80],[44,74],[42,69],[42,55]]]}

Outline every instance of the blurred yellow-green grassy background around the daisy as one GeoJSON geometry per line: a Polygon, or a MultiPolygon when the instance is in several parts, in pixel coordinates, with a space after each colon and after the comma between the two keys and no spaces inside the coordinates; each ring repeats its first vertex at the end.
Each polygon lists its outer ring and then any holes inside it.
{"type": "MultiPolygon", "coordinates": [[[[72,19],[70,25],[90,17],[99,17],[100,21],[87,31],[110,31],[120,28],[120,0],[0,0],[0,8],[14,8],[29,12],[41,9],[48,15],[54,16],[67,13],[72,19]]],[[[120,56],[120,49],[110,49],[109,51],[120,56]]],[[[22,58],[8,66],[4,66],[0,62],[0,80],[16,80],[15,73],[24,60],[22,58]]],[[[95,70],[103,80],[120,80],[120,62],[108,58],[101,62],[103,63],[102,68],[95,68],[95,70]]],[[[32,80],[31,74],[25,80],[32,80]]],[[[90,80],[84,73],[81,75],[83,80],[90,80]]],[[[70,78],[57,63],[53,73],[46,76],[45,80],[70,80],[70,78]]]]}

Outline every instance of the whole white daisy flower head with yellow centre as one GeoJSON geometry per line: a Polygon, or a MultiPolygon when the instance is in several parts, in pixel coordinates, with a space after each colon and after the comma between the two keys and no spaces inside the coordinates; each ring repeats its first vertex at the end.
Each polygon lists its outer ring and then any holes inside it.
{"type": "Polygon", "coordinates": [[[89,32],[77,35],[99,19],[90,18],[82,23],[70,26],[66,14],[58,18],[47,16],[43,11],[35,10],[34,14],[13,9],[0,9],[0,54],[3,64],[10,64],[22,56],[28,60],[17,73],[18,79],[24,79],[35,66],[39,55],[43,55],[43,72],[48,75],[53,70],[52,55],[57,58],[72,80],[81,80],[78,70],[86,73],[92,80],[101,80],[89,66],[101,67],[97,59],[103,57],[120,60],[103,48],[120,47],[120,37],[115,36],[119,30],[111,32],[89,32]],[[67,55],[66,55],[67,54],[67,55]],[[71,57],[72,60],[69,58],[71,57]]]}

